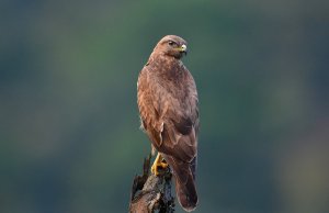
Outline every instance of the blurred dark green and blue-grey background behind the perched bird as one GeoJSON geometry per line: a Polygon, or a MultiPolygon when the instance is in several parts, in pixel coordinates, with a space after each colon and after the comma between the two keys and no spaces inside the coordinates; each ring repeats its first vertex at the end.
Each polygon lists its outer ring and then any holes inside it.
{"type": "Polygon", "coordinates": [[[0,212],[127,212],[150,152],[137,76],[177,34],[200,93],[195,212],[328,213],[328,2],[2,0],[0,212]]]}

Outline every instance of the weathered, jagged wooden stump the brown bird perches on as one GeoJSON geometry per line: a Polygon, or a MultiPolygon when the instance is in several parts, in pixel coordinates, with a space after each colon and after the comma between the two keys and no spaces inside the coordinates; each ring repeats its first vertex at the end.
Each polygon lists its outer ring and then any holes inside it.
{"type": "Polygon", "coordinates": [[[135,176],[129,213],[172,213],[174,212],[174,198],[171,195],[171,172],[169,167],[159,170],[160,175],[149,172],[150,159],[144,159],[143,176],[135,176]]]}

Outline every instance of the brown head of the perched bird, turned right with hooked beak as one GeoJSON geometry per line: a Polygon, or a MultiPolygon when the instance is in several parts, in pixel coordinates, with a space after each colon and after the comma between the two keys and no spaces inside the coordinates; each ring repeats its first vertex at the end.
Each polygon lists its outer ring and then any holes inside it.
{"type": "Polygon", "coordinates": [[[177,35],[167,35],[160,40],[154,52],[180,59],[188,54],[188,43],[177,35]]]}

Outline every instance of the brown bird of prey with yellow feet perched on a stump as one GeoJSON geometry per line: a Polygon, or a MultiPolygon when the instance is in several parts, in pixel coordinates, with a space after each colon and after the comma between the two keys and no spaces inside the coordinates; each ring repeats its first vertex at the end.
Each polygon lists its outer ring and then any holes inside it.
{"type": "Polygon", "coordinates": [[[181,61],[186,53],[183,38],[160,40],[139,72],[137,103],[141,128],[158,150],[151,171],[158,176],[159,168],[170,166],[178,200],[190,212],[197,204],[198,100],[194,79],[181,61]]]}

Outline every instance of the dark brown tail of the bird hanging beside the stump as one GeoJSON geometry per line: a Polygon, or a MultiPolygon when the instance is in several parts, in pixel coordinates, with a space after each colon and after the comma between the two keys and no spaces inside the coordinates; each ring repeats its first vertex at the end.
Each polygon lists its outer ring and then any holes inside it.
{"type": "Polygon", "coordinates": [[[196,158],[192,162],[185,162],[173,157],[167,157],[166,160],[173,170],[175,178],[175,193],[181,206],[191,212],[197,204],[197,193],[195,188],[195,167],[196,158]]]}

